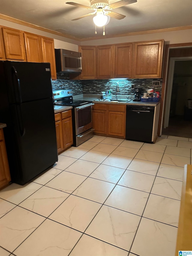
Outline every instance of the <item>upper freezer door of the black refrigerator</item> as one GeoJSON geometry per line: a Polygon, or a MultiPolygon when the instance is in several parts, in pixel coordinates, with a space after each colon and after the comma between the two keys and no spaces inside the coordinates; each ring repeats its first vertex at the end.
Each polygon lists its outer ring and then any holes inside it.
{"type": "Polygon", "coordinates": [[[5,61],[11,103],[52,97],[50,63],[5,61]]]}

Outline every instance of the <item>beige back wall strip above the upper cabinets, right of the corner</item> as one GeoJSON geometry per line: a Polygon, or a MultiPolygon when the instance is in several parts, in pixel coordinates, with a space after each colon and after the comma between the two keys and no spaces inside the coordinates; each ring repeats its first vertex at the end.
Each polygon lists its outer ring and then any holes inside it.
{"type": "Polygon", "coordinates": [[[82,41],[81,45],[119,44],[156,39],[164,39],[166,44],[190,43],[192,42],[192,29],[82,41]]]}

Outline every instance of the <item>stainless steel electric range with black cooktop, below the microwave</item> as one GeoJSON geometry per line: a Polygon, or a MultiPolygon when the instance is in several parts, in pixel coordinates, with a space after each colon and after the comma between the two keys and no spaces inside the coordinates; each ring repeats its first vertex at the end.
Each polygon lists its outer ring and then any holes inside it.
{"type": "Polygon", "coordinates": [[[53,100],[55,105],[73,107],[73,146],[79,146],[93,137],[92,101],[73,100],[71,89],[53,91],[53,100]]]}

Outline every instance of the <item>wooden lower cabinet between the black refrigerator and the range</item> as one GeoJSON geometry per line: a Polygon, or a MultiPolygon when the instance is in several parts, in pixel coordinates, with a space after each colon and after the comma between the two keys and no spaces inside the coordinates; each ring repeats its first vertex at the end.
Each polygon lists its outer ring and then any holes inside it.
{"type": "Polygon", "coordinates": [[[71,110],[55,114],[55,128],[58,154],[73,144],[71,110]]]}

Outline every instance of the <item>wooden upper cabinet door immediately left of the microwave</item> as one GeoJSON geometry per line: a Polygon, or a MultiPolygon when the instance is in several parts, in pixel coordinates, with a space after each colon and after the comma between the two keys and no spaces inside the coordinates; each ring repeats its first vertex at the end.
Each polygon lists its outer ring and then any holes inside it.
{"type": "Polygon", "coordinates": [[[49,62],[51,65],[51,78],[57,79],[56,66],[55,66],[55,49],[54,40],[51,38],[41,38],[43,50],[43,62],[49,62]]]}

